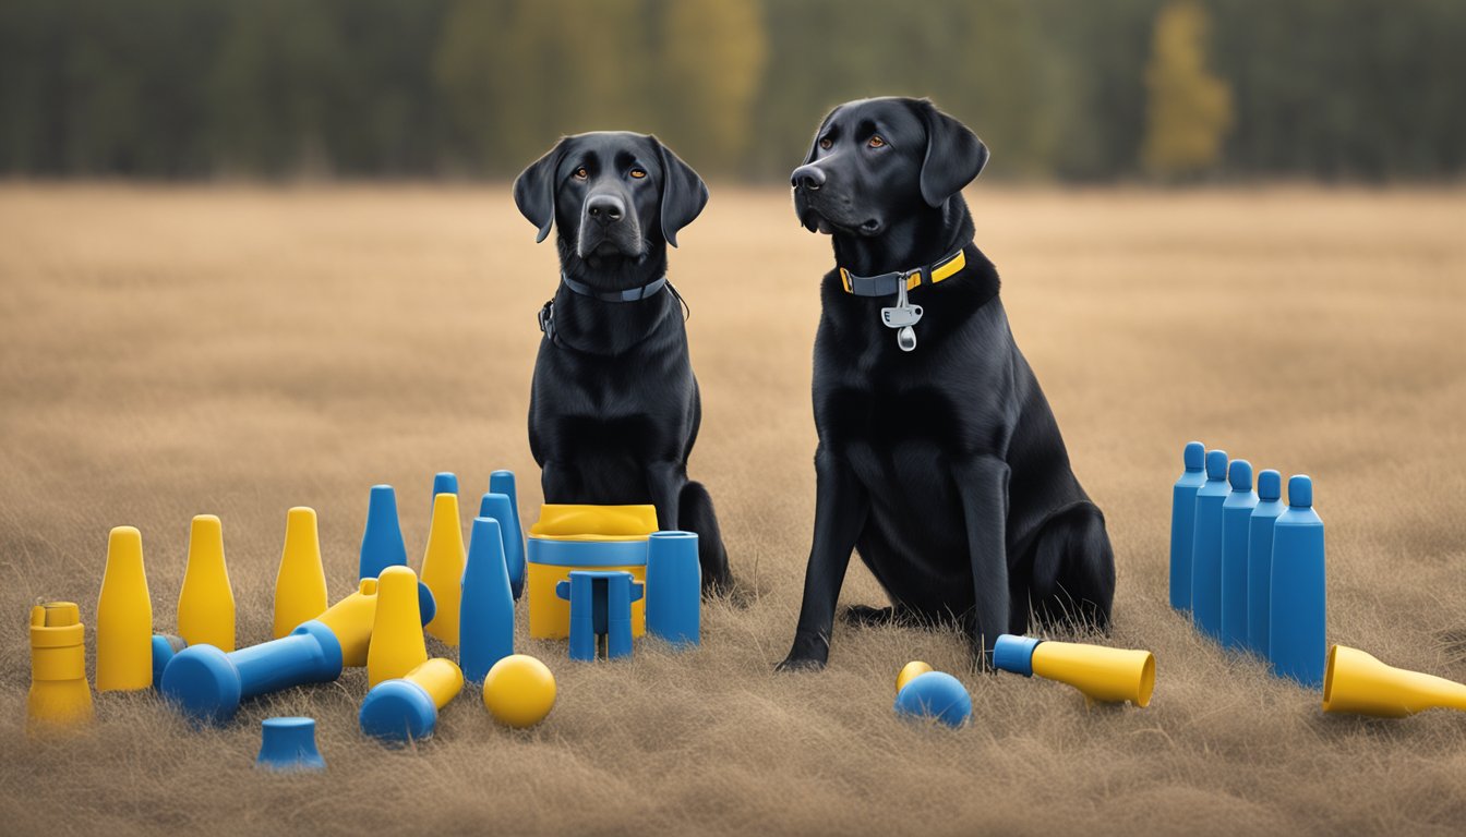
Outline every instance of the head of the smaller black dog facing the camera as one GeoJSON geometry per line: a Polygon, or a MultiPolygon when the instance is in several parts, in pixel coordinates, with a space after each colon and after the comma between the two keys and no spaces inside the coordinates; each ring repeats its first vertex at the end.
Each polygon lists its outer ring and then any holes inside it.
{"type": "Polygon", "coordinates": [[[560,230],[563,252],[581,259],[641,259],[708,202],[690,166],[655,136],[594,132],[566,136],[515,180],[515,204],[545,240],[560,230]]]}

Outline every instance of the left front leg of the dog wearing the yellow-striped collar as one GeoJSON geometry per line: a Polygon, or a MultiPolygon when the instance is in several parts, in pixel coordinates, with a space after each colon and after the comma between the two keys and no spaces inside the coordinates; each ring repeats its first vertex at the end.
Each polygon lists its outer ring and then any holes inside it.
{"type": "Polygon", "coordinates": [[[822,668],[830,658],[834,605],[868,510],[865,487],[850,466],[821,447],[815,453],[815,535],[805,569],[805,601],[795,646],[778,664],[780,671],[822,668]]]}

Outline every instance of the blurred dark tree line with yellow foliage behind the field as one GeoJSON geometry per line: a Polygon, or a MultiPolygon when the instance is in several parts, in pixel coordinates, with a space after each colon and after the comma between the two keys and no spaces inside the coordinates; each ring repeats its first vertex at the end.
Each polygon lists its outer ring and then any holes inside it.
{"type": "Polygon", "coordinates": [[[910,94],[997,176],[1457,177],[1463,44],[1459,0],[0,0],[0,173],[500,177],[604,128],[781,180],[910,94]]]}

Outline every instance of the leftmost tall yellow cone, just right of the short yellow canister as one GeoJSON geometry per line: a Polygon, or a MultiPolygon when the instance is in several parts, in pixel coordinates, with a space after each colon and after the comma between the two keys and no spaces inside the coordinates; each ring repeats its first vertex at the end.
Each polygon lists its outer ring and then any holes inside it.
{"type": "Polygon", "coordinates": [[[107,569],[97,598],[97,690],[152,687],[152,600],[142,570],[142,534],[117,526],[107,537],[107,569]]]}

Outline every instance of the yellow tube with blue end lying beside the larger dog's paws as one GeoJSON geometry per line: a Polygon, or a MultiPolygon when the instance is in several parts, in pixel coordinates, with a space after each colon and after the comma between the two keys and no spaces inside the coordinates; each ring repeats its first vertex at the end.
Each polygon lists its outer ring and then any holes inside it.
{"type": "Polygon", "coordinates": [[[1155,689],[1155,655],[1149,651],[1045,642],[1004,633],[992,646],[992,664],[1025,677],[1038,674],[1069,683],[1083,692],[1088,702],[1130,701],[1146,707],[1155,689]]]}

